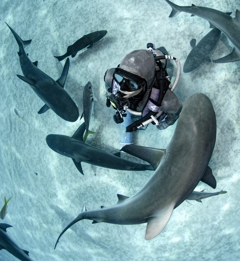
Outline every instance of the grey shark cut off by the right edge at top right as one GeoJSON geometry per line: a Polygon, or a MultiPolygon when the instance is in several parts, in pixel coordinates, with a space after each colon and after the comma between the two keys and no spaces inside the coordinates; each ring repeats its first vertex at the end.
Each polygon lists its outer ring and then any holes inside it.
{"type": "Polygon", "coordinates": [[[229,63],[240,60],[240,12],[236,10],[235,17],[232,18],[226,13],[221,11],[196,6],[192,4],[192,6],[179,6],[172,3],[169,0],[165,0],[171,7],[172,12],[169,17],[177,16],[180,12],[186,12],[192,14],[191,16],[199,16],[201,18],[206,19],[210,23],[210,28],[218,28],[219,30],[228,37],[230,42],[233,44],[234,48],[230,54],[219,58],[217,60],[213,60],[214,63],[229,63]]]}

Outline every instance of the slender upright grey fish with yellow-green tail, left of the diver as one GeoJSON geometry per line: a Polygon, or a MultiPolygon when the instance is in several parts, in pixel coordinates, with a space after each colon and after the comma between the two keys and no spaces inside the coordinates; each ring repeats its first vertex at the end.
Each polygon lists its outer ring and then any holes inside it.
{"type": "Polygon", "coordinates": [[[93,131],[89,130],[89,122],[93,113],[94,101],[97,101],[97,99],[94,96],[94,90],[91,82],[88,82],[84,86],[84,90],[83,90],[83,114],[81,118],[82,117],[84,118],[84,122],[86,125],[86,132],[83,137],[83,142],[87,139],[89,133],[94,133],[93,131]]]}

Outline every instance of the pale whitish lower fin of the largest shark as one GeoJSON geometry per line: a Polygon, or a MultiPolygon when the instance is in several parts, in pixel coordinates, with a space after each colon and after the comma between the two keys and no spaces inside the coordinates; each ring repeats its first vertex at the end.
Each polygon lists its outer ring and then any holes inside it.
{"type": "Polygon", "coordinates": [[[167,206],[158,213],[156,216],[148,217],[148,224],[145,234],[145,239],[149,240],[156,237],[168,223],[172,215],[175,204],[167,206]]]}

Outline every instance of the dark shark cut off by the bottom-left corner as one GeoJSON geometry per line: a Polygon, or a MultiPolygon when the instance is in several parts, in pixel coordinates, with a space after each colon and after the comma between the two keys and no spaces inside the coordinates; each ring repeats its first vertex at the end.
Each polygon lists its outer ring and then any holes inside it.
{"type": "Polygon", "coordinates": [[[29,251],[21,249],[7,234],[7,228],[11,225],[0,223],[0,250],[6,249],[10,254],[22,261],[33,261],[28,253],[29,251]]]}

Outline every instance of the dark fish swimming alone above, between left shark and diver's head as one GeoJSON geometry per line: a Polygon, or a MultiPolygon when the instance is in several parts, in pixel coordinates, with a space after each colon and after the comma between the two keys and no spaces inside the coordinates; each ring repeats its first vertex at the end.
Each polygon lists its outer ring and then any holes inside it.
{"type": "Polygon", "coordinates": [[[59,61],[62,61],[67,56],[75,57],[78,51],[82,50],[83,48],[92,48],[93,44],[97,41],[101,40],[107,34],[106,30],[96,31],[93,33],[89,33],[87,35],[83,35],[80,39],[78,39],[75,43],[68,46],[66,54],[62,56],[54,56],[59,61]]]}

